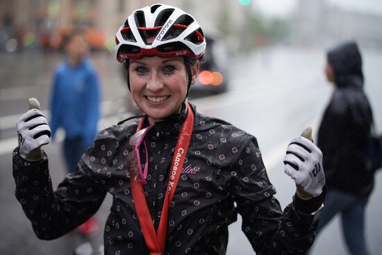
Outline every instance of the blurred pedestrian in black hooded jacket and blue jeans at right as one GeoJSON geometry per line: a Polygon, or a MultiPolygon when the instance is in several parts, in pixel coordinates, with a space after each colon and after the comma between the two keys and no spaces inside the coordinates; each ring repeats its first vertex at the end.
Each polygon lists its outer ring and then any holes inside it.
{"type": "Polygon", "coordinates": [[[371,133],[372,110],[363,91],[362,58],[356,42],[343,42],[326,54],[326,79],[333,94],[322,117],[318,146],[328,187],[318,231],[340,215],[344,240],[353,255],[369,254],[365,208],[374,176],[365,154],[371,133]]]}

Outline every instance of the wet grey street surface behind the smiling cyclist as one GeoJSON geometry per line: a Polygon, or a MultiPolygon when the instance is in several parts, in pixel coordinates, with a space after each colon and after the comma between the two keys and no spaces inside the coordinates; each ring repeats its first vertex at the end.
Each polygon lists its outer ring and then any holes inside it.
{"type": "MultiPolygon", "coordinates": [[[[106,197],[97,217],[101,231],[94,238],[83,238],[73,231],[58,240],[38,240],[22,207],[15,199],[12,176],[12,151],[17,145],[15,122],[27,109],[28,97],[40,100],[47,111],[52,72],[58,54],[1,54],[0,63],[0,254],[72,254],[78,245],[90,242],[94,255],[103,244],[103,224],[111,197],[106,197]]],[[[382,132],[382,54],[364,52],[365,90],[374,109],[376,129],[382,132]]],[[[131,115],[126,100],[126,83],[113,54],[93,55],[103,90],[102,120],[99,129],[116,124],[131,115]]],[[[276,198],[285,207],[294,194],[294,182],[283,172],[283,156],[292,138],[306,126],[316,135],[322,111],[332,87],[324,77],[324,49],[274,48],[254,51],[234,58],[231,63],[229,92],[190,101],[206,115],[222,118],[258,139],[276,198]]],[[[191,93],[192,96],[192,93],[191,93]]],[[[65,174],[60,154],[61,139],[45,147],[49,155],[53,186],[65,174]]],[[[376,174],[375,188],[367,206],[367,242],[372,254],[382,250],[382,171],[376,174]]],[[[229,227],[227,255],[255,254],[240,229],[240,217],[229,227]]],[[[322,231],[310,255],[347,254],[338,217],[322,231]]]]}

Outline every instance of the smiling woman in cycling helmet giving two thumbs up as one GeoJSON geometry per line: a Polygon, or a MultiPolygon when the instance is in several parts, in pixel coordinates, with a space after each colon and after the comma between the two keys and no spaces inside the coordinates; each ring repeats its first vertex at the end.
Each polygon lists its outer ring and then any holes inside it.
{"type": "MultiPolygon", "coordinates": [[[[40,144],[30,139],[34,146],[20,142],[17,198],[37,235],[62,236],[110,192],[105,254],[225,254],[237,213],[254,251],[304,254],[324,199],[321,151],[306,138],[292,140],[285,172],[297,183],[297,195],[282,212],[256,138],[187,103],[206,48],[194,18],[173,6],[147,6],[128,17],[116,42],[116,58],[126,66],[128,88],[144,115],[101,131],[56,192],[49,188],[46,155],[24,161],[49,142],[48,135],[40,144]],[[32,192],[47,201],[34,204],[32,192]]],[[[28,134],[24,120],[36,113],[42,114],[30,110],[20,118],[22,137],[28,134]]]]}

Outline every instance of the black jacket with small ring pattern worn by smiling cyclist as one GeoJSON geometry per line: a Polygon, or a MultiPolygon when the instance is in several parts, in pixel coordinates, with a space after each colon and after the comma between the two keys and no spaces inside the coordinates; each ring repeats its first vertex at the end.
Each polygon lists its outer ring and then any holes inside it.
{"type": "MultiPolygon", "coordinates": [[[[181,115],[157,122],[144,136],[149,152],[144,194],[156,228],[184,119],[181,115]]],[[[74,229],[97,211],[109,192],[113,205],[104,231],[105,254],[149,254],[125,164],[132,149],[128,140],[137,124],[101,131],[76,171],[55,192],[47,156],[27,163],[15,149],[16,196],[39,238],[58,238],[74,229]]],[[[169,208],[165,254],[225,254],[228,225],[237,220],[238,213],[242,231],[258,254],[305,254],[317,227],[310,212],[321,205],[324,196],[310,201],[294,196],[282,212],[275,192],[256,138],[196,112],[190,147],[169,208]]]]}

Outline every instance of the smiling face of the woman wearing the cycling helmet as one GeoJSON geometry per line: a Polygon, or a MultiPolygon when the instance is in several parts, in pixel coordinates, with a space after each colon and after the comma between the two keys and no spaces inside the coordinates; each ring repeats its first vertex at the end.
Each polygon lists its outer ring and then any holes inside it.
{"type": "MultiPolygon", "coordinates": [[[[199,64],[192,66],[192,84],[199,64]]],[[[188,89],[188,76],[182,57],[158,56],[131,59],[128,66],[131,95],[150,124],[180,113],[188,89]]]]}

